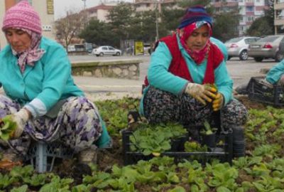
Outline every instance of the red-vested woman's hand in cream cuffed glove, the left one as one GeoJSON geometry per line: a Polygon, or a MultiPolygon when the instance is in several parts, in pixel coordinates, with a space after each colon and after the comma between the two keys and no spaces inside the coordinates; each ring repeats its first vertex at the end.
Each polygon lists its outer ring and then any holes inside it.
{"type": "Polygon", "coordinates": [[[197,83],[189,82],[185,88],[185,92],[191,95],[203,105],[207,102],[212,102],[212,99],[216,97],[217,90],[209,85],[200,85],[197,83]]]}

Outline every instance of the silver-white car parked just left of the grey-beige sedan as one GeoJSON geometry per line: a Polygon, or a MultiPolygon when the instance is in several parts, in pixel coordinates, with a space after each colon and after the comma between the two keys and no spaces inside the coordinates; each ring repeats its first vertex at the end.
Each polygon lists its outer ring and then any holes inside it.
{"type": "Polygon", "coordinates": [[[249,43],[258,41],[258,37],[239,37],[231,38],[225,42],[226,49],[228,50],[228,60],[232,57],[239,57],[240,60],[248,59],[249,43]]]}

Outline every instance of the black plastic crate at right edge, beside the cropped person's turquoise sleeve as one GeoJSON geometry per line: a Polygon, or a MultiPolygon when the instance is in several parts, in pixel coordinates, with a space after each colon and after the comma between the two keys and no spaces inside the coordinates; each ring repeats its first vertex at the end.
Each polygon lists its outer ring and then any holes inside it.
{"type": "Polygon", "coordinates": [[[249,99],[278,107],[284,106],[283,86],[269,85],[263,77],[253,77],[249,81],[247,92],[249,99]]]}

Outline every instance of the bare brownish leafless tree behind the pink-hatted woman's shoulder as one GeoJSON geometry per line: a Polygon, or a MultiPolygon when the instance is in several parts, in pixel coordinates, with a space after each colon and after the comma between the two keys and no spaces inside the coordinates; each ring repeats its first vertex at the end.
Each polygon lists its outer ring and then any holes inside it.
{"type": "Polygon", "coordinates": [[[83,20],[84,14],[82,12],[73,13],[69,11],[65,18],[60,18],[58,21],[55,21],[56,35],[63,40],[66,50],[72,39],[79,35],[84,26],[83,20]]]}

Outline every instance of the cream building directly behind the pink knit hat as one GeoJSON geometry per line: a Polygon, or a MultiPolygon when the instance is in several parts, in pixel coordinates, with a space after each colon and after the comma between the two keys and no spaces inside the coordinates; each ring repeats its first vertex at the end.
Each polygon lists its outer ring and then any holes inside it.
{"type": "MultiPolygon", "coordinates": [[[[0,28],[2,28],[2,21],[4,13],[11,6],[21,0],[1,0],[0,1],[0,28]]],[[[54,9],[53,0],[29,0],[35,11],[40,15],[40,20],[43,28],[43,36],[55,39],[55,31],[53,29],[54,9]]],[[[0,48],[6,46],[6,38],[3,33],[0,35],[0,48]]]]}

